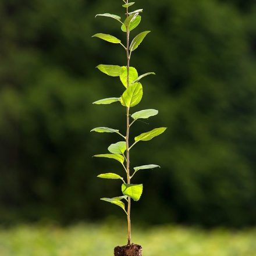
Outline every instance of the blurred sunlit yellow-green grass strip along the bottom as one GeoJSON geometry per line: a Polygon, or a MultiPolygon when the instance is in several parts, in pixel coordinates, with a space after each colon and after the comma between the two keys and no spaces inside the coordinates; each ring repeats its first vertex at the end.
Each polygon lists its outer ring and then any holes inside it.
{"type": "MultiPolygon", "coordinates": [[[[143,256],[256,256],[256,229],[234,232],[159,226],[132,231],[134,243],[143,246],[143,256]]],[[[1,256],[111,256],[113,247],[125,243],[122,224],[0,229],[1,256]]]]}

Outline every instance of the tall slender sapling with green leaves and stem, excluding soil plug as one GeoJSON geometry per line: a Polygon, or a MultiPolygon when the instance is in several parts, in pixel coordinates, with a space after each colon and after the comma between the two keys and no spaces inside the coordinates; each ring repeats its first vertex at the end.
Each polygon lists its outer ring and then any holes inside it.
{"type": "Polygon", "coordinates": [[[111,202],[112,204],[118,205],[123,209],[127,215],[127,225],[128,225],[128,241],[127,245],[131,244],[131,222],[130,222],[130,212],[131,212],[131,199],[134,201],[140,200],[141,194],[143,192],[143,184],[133,184],[131,179],[139,170],[152,169],[159,167],[158,165],[142,165],[136,166],[133,168],[131,173],[130,170],[130,150],[134,147],[139,141],[148,141],[152,138],[160,135],[166,130],[166,127],[156,128],[151,131],[142,133],[134,138],[133,143],[129,143],[129,132],[130,128],[134,122],[138,119],[148,119],[151,116],[158,114],[158,111],[155,109],[144,109],[135,113],[132,113],[130,116],[130,110],[133,106],[136,106],[140,103],[141,98],[143,97],[143,86],[140,83],[143,77],[148,76],[148,74],[155,74],[154,72],[148,72],[138,76],[138,72],[135,67],[130,66],[130,59],[133,52],[138,48],[141,42],[144,40],[146,35],[150,31],[143,31],[136,35],[133,40],[130,42],[130,32],[140,24],[141,16],[140,13],[143,12],[143,9],[137,9],[134,11],[129,10],[130,6],[134,5],[134,2],[129,0],[122,0],[124,4],[123,8],[126,9],[125,20],[122,21],[121,17],[118,15],[112,15],[110,13],[98,14],[97,16],[109,17],[115,19],[117,24],[120,23],[120,29],[126,34],[126,43],[122,43],[121,40],[109,34],[98,33],[93,35],[93,37],[101,38],[102,40],[111,42],[113,44],[119,44],[125,50],[127,57],[126,66],[117,66],[117,65],[98,65],[97,68],[112,77],[119,77],[122,85],[125,87],[124,92],[121,97],[112,97],[99,99],[98,101],[93,102],[93,104],[112,104],[113,102],[120,102],[120,105],[124,106],[126,109],[126,134],[122,134],[118,129],[112,129],[109,127],[97,127],[91,131],[96,131],[98,133],[117,133],[122,137],[121,141],[111,144],[108,147],[108,154],[94,155],[94,157],[103,157],[103,158],[112,158],[120,162],[125,170],[126,178],[122,177],[116,173],[103,173],[98,175],[102,179],[120,179],[122,180],[122,195],[113,198],[101,198],[106,202],[111,202]],[[131,120],[130,120],[131,119],[131,120]],[[125,204],[126,203],[126,204],[125,204]]]}

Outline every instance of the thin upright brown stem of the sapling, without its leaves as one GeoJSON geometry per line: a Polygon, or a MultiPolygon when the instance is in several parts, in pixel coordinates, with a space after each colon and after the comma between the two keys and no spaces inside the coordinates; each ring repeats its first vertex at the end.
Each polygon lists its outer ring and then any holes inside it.
{"type": "MultiPolygon", "coordinates": [[[[129,3],[129,0],[127,0],[129,3]]],[[[126,8],[126,17],[129,16],[129,7],[126,8]]],[[[130,31],[129,26],[126,27],[126,56],[127,56],[127,88],[129,87],[129,67],[130,67],[130,55],[129,55],[129,37],[130,31]]],[[[127,172],[127,184],[130,184],[130,150],[129,150],[129,131],[130,131],[130,108],[126,108],[126,172],[127,172]]],[[[131,198],[128,197],[128,206],[127,206],[127,225],[128,225],[128,241],[127,245],[131,244],[131,198]]]]}

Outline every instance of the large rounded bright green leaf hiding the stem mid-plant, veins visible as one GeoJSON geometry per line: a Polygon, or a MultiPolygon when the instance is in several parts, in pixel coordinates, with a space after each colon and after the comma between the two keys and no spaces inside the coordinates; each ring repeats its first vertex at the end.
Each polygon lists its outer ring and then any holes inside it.
{"type": "Polygon", "coordinates": [[[121,97],[121,104],[123,106],[135,106],[140,103],[143,96],[143,88],[141,83],[131,84],[121,97]]]}

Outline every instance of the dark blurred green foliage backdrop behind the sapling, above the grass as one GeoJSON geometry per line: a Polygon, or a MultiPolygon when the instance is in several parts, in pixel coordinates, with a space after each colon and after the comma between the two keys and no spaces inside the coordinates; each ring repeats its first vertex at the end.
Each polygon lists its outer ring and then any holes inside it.
{"type": "MultiPolygon", "coordinates": [[[[118,141],[90,134],[97,126],[125,129],[125,111],[91,102],[122,94],[123,86],[94,69],[125,65],[122,47],[91,38],[124,38],[122,1],[2,0],[0,2],[0,221],[72,222],[122,216],[98,198],[119,182],[96,176],[119,165],[91,155],[118,141]]],[[[168,126],[159,140],[136,145],[131,166],[141,172],[141,203],[133,221],[245,226],[256,216],[256,5],[254,1],[141,0],[151,30],[131,66],[144,79],[139,107],[161,115],[133,127],[132,137],[168,126]],[[155,188],[158,188],[157,190],[155,188]],[[156,214],[157,213],[157,214],[156,214]]],[[[119,174],[122,173],[120,170],[119,174]]]]}

